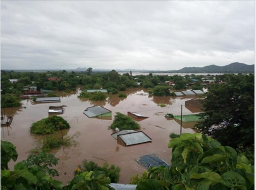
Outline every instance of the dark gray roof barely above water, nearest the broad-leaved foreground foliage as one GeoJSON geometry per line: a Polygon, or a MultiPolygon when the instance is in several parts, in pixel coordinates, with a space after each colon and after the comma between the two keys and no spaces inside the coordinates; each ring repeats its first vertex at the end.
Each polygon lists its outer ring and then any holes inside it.
{"type": "Polygon", "coordinates": [[[155,154],[152,155],[144,155],[136,160],[140,165],[144,166],[145,168],[149,168],[150,166],[169,166],[165,161],[161,158],[157,157],[155,154]]]}

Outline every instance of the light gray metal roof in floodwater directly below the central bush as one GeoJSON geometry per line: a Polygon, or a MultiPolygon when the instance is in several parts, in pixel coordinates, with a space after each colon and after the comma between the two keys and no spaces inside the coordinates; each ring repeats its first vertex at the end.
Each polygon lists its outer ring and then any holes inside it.
{"type": "Polygon", "coordinates": [[[125,143],[126,146],[152,141],[152,139],[142,131],[118,135],[118,137],[125,143]]]}

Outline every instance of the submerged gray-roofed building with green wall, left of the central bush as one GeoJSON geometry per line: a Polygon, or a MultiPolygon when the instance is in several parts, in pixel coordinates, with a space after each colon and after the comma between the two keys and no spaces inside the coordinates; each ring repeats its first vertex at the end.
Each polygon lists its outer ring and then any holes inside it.
{"type": "Polygon", "coordinates": [[[104,118],[104,117],[111,117],[112,111],[106,109],[102,106],[92,106],[88,107],[83,112],[88,118],[104,118]]]}

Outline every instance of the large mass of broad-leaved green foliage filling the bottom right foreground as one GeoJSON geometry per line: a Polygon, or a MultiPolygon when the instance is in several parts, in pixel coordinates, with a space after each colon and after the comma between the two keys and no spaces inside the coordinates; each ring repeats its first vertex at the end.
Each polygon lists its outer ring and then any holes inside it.
{"type": "Polygon", "coordinates": [[[172,165],[149,168],[154,170],[151,177],[140,181],[137,190],[254,189],[254,166],[245,156],[237,156],[232,147],[200,133],[183,133],[168,146],[172,148],[172,165]]]}

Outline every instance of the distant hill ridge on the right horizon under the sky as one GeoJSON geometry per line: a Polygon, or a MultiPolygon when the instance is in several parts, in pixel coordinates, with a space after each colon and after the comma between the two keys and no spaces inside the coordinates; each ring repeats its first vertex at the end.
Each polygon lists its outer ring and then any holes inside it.
{"type": "Polygon", "coordinates": [[[179,70],[168,70],[170,73],[254,73],[254,65],[231,63],[225,66],[208,65],[204,67],[184,67],[179,70]]]}

